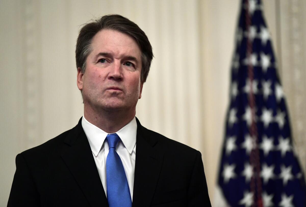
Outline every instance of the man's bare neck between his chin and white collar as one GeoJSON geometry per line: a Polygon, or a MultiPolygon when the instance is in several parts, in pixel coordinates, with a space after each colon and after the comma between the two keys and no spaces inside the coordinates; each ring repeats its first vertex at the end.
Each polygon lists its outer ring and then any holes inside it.
{"type": "Polygon", "coordinates": [[[135,117],[136,110],[104,111],[99,112],[84,107],[84,117],[91,124],[99,127],[106,133],[115,133],[127,125],[135,117]]]}

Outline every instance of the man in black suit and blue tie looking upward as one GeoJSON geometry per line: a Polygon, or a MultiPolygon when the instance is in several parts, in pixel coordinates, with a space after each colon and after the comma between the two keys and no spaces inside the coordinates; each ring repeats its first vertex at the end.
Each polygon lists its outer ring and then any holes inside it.
{"type": "Polygon", "coordinates": [[[8,206],[211,206],[200,152],[135,117],[152,58],[145,33],[120,15],[80,30],[84,115],[17,155],[8,206]]]}

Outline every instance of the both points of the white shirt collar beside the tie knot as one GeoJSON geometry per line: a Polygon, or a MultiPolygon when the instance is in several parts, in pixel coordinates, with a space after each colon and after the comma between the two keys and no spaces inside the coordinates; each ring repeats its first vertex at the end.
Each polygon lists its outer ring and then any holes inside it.
{"type": "MultiPolygon", "coordinates": [[[[104,132],[99,127],[88,122],[84,115],[82,117],[82,127],[87,136],[91,151],[98,156],[102,145],[105,141],[108,133],[104,132]]],[[[120,137],[123,145],[132,154],[132,151],[136,145],[136,135],[137,135],[137,122],[134,117],[127,125],[122,127],[118,132],[116,132],[120,137]]]]}

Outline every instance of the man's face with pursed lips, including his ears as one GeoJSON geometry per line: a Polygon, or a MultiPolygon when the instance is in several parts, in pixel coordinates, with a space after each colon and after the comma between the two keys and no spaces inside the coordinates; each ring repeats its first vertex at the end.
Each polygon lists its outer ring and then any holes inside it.
{"type": "Polygon", "coordinates": [[[134,110],[141,97],[141,51],[133,38],[101,30],[92,39],[84,74],[78,68],[77,86],[84,110],[134,110]]]}

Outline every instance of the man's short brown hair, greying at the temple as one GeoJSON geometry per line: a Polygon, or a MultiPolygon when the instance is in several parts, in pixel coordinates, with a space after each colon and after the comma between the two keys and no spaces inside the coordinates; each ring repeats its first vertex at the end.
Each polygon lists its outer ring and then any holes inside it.
{"type": "Polygon", "coordinates": [[[142,69],[140,81],[142,83],[146,82],[153,59],[152,46],[147,35],[137,24],[118,14],[102,16],[97,20],[85,24],[81,28],[76,41],[76,68],[80,67],[82,72],[85,72],[86,59],[92,51],[92,38],[103,29],[119,31],[135,39],[141,50],[142,69]]]}

